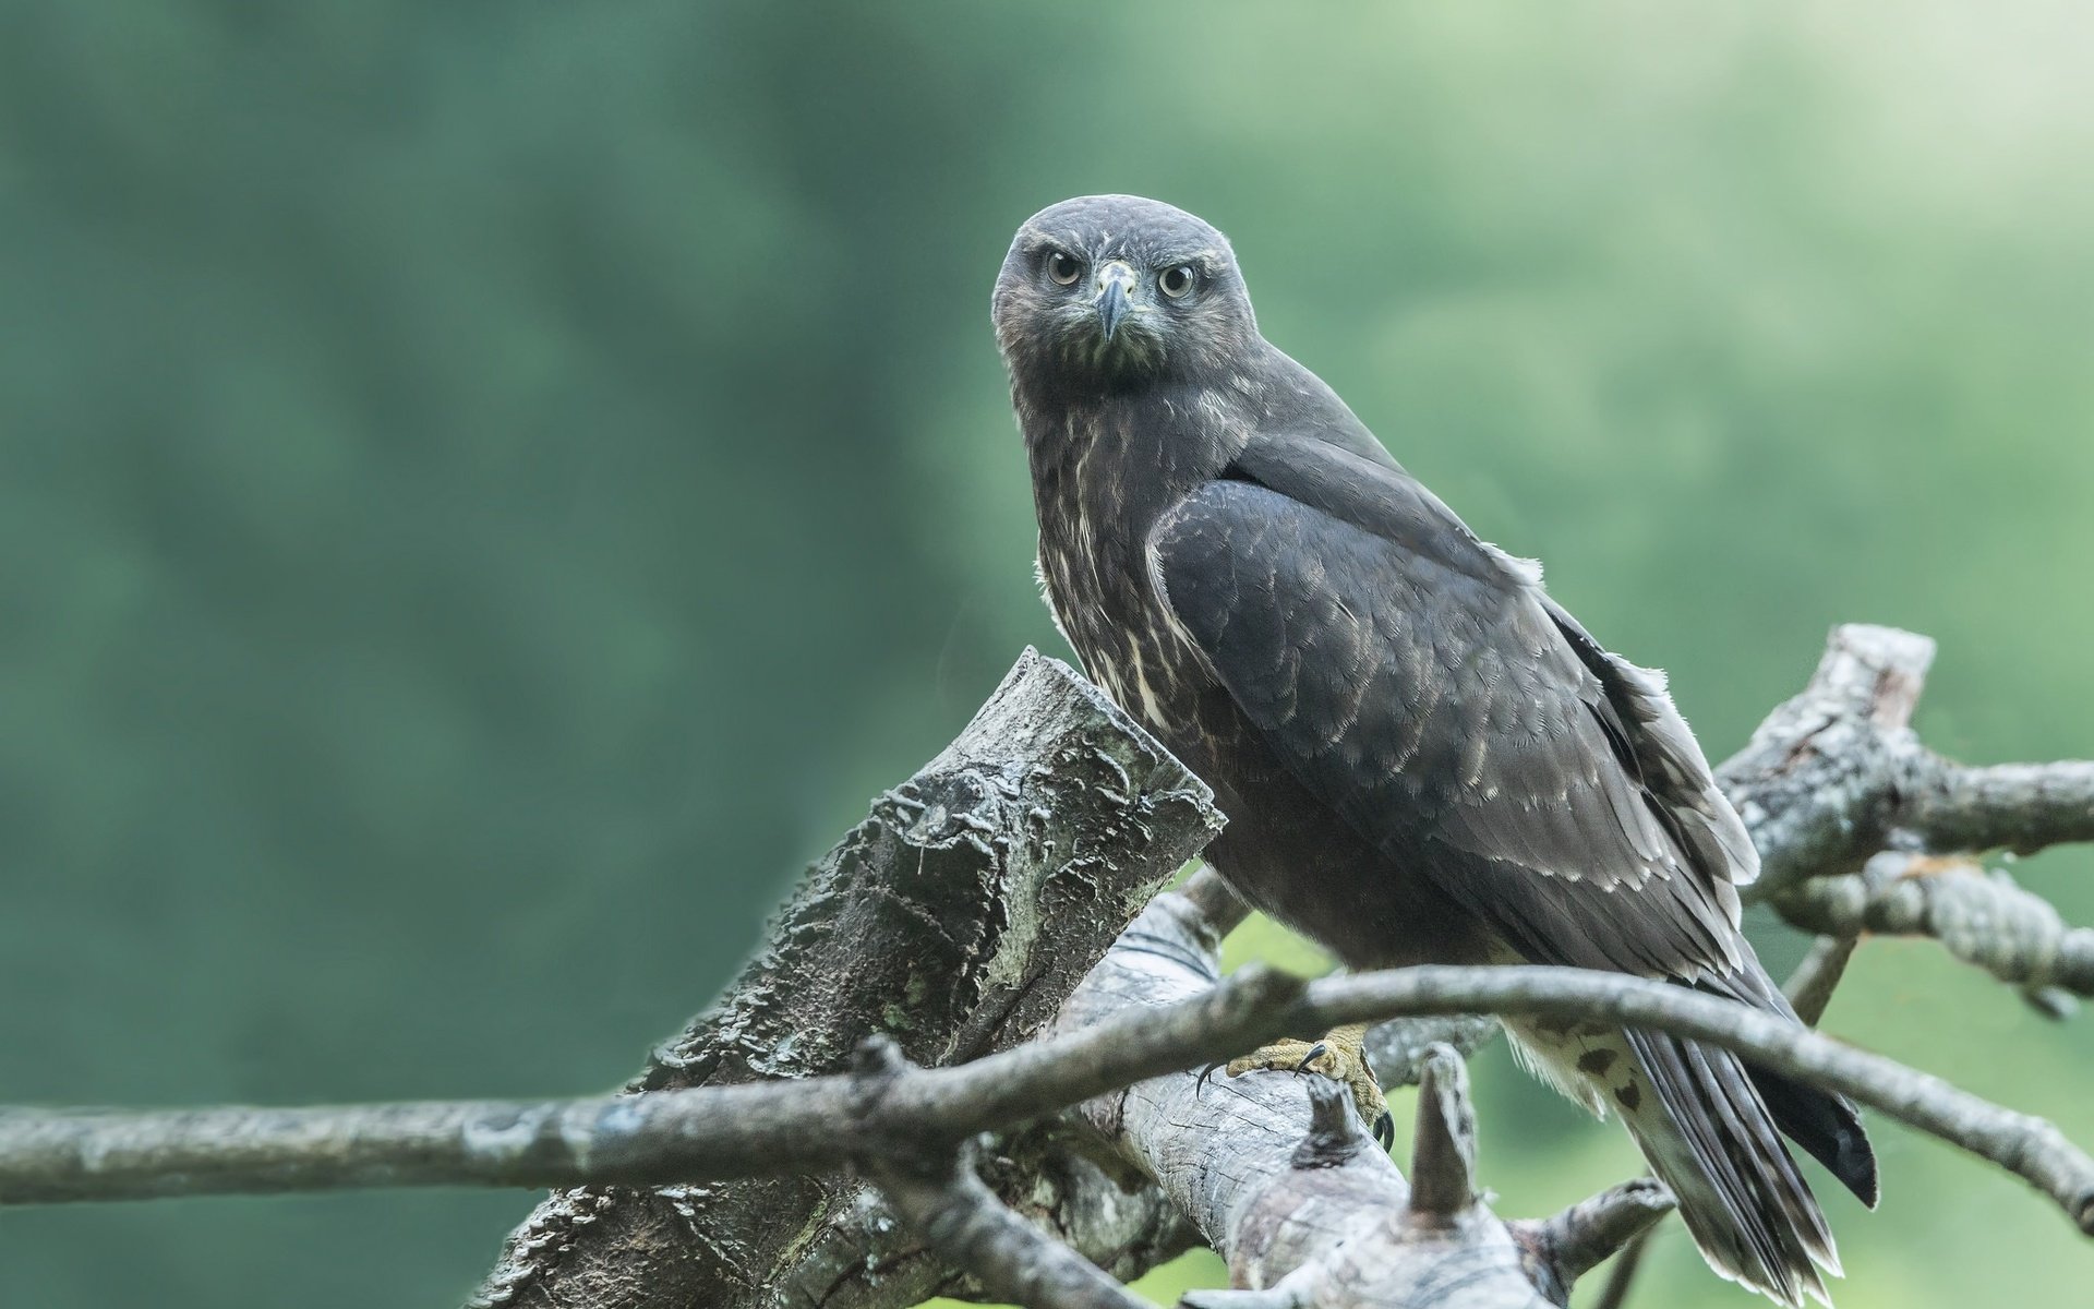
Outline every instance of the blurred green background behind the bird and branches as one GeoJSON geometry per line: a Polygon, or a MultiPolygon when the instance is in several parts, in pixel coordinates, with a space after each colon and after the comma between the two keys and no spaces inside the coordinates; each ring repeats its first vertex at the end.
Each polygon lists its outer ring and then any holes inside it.
{"type": "MultiPolygon", "coordinates": [[[[986,306],[1087,191],[1225,228],[1713,756],[1836,620],[1941,641],[1937,748],[2094,754],[2090,57],[2042,0],[0,0],[0,1100],[630,1072],[1060,649],[986,306]]],[[[1828,1026],[2094,1141],[2086,1022],[1933,947],[1828,1026]]],[[[1635,1171],[1478,1081],[1501,1211],[1635,1171]]],[[[1843,1309],[2084,1303],[2044,1202],[1880,1150],[1843,1309]]],[[[530,1202],[4,1213],[0,1303],[448,1305],[530,1202]]]]}

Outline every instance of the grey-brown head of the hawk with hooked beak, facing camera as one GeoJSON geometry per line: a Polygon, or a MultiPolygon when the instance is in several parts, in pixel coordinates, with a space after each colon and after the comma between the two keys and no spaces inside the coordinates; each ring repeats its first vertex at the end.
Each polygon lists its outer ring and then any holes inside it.
{"type": "Polygon", "coordinates": [[[1227,367],[1258,335],[1229,239],[1137,195],[1085,195],[1028,218],[990,318],[1020,385],[1083,390],[1227,367]]]}

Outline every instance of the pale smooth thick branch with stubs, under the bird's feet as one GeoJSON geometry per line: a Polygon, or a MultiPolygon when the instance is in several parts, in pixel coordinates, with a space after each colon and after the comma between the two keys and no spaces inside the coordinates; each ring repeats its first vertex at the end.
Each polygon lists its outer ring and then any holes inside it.
{"type": "MultiPolygon", "coordinates": [[[[1187,896],[1158,896],[1085,978],[1068,1020],[1112,1024],[1129,1010],[1200,995],[1215,976],[1206,928],[1187,896]]],[[[1564,1303],[1575,1275],[1564,1255],[1589,1255],[1627,1227],[1497,1219],[1474,1194],[1462,1064],[1445,1047],[1424,1064],[1416,1190],[1367,1137],[1351,1093],[1319,1077],[1177,1072],[1093,1100],[1085,1114],[1229,1259],[1238,1290],[1194,1292],[1196,1309],[1564,1303]]]]}

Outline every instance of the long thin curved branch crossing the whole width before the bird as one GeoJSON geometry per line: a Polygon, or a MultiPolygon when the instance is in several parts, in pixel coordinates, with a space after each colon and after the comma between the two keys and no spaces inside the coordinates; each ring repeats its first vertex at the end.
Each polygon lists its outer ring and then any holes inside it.
{"type": "Polygon", "coordinates": [[[2094,1158],[2044,1118],[1738,1003],[1577,968],[1405,968],[1307,984],[1246,968],[1196,999],[890,1077],[871,1102],[856,1079],[821,1077],[551,1104],[13,1112],[0,1118],[0,1202],[827,1171],[1051,1114],[1290,1030],[1468,1012],[1608,1020],[1721,1045],[1998,1162],[2094,1234],[2094,1158]]]}

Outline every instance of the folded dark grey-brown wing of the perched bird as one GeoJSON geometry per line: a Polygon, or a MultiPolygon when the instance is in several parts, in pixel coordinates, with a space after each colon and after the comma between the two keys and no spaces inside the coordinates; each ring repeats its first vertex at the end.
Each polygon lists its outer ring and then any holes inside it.
{"type": "Polygon", "coordinates": [[[1426,852],[1527,959],[1740,970],[1734,886],[1757,857],[1663,681],[1416,480],[1269,442],[1177,505],[1150,559],[1302,785],[1393,857],[1426,852]]]}

